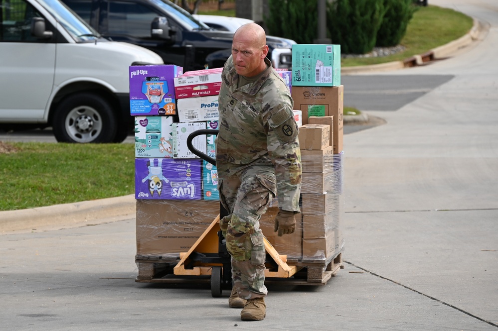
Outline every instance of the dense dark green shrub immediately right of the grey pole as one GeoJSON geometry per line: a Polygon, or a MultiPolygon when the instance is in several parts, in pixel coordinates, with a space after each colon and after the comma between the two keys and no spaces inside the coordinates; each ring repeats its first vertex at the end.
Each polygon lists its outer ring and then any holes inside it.
{"type": "Polygon", "coordinates": [[[370,52],[385,14],[383,0],[335,0],[327,5],[327,27],[341,53],[370,52]]]}

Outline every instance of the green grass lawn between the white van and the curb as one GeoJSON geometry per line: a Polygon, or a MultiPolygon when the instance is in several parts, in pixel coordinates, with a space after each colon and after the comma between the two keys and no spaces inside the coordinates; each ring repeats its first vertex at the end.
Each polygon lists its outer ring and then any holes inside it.
{"type": "Polygon", "coordinates": [[[135,192],[135,145],[1,142],[0,211],[135,192]]]}

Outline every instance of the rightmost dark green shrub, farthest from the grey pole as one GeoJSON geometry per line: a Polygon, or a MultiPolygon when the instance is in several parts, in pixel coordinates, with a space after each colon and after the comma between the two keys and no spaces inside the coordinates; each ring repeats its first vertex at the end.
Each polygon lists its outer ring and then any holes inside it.
{"type": "Polygon", "coordinates": [[[376,46],[396,46],[403,39],[416,7],[413,0],[384,0],[385,15],[377,31],[376,46]]]}

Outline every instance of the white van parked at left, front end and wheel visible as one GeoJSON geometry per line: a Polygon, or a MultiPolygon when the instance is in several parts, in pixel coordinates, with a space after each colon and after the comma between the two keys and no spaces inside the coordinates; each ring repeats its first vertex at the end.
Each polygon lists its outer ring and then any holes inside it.
{"type": "Polygon", "coordinates": [[[102,38],[59,0],[0,0],[0,127],[51,126],[59,142],[121,142],[129,66],[163,64],[102,38]]]}

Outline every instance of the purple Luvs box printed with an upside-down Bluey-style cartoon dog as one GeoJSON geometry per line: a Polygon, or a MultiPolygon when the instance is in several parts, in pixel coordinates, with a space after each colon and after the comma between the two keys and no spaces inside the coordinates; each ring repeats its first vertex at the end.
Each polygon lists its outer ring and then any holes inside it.
{"type": "Polygon", "coordinates": [[[200,200],[201,160],[135,159],[135,198],[200,200]]]}

